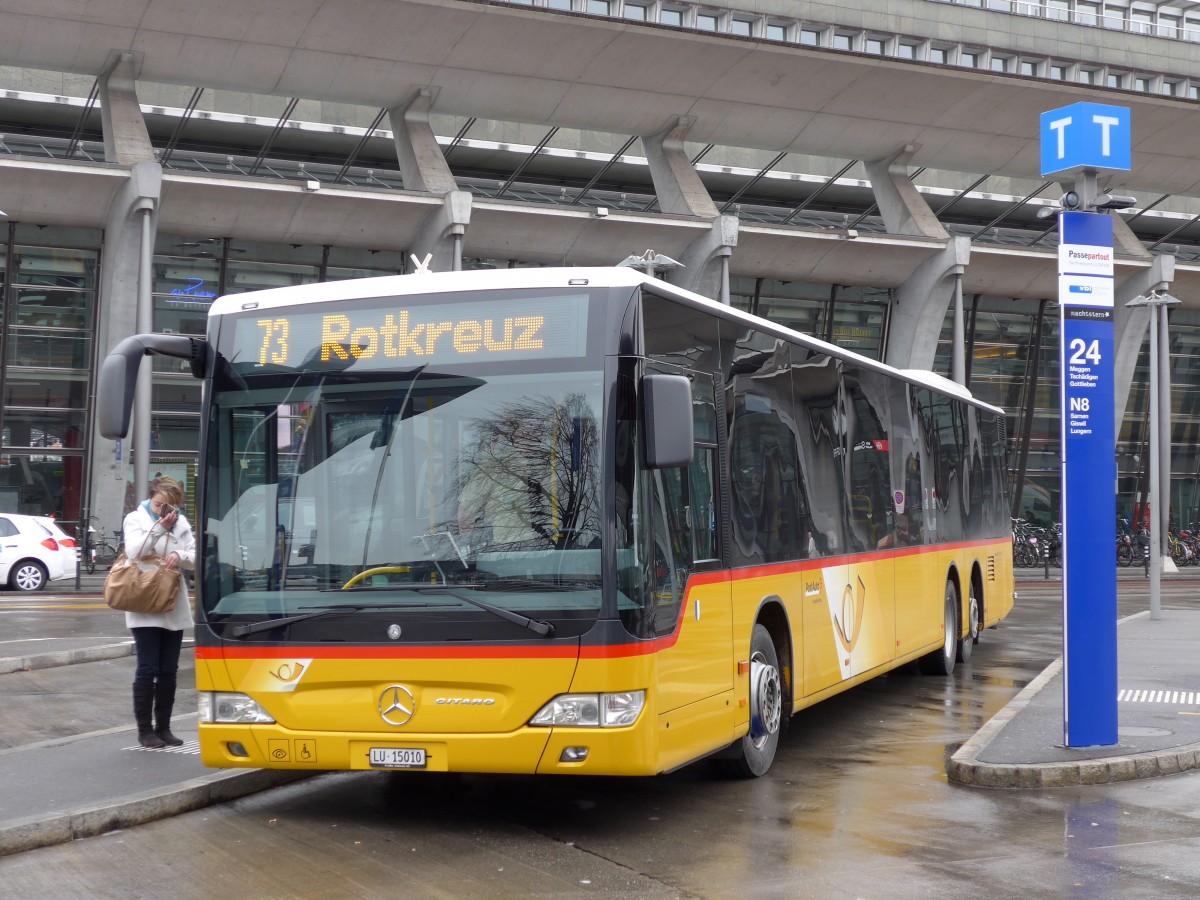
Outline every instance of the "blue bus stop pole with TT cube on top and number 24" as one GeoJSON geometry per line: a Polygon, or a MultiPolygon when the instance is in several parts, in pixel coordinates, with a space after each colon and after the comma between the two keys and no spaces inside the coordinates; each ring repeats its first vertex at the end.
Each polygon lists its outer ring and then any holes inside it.
{"type": "Polygon", "coordinates": [[[1042,174],[1074,180],[1058,215],[1063,524],[1063,739],[1117,743],[1116,437],[1112,220],[1133,198],[1097,194],[1097,170],[1132,168],[1127,107],[1042,114],[1042,174]]]}

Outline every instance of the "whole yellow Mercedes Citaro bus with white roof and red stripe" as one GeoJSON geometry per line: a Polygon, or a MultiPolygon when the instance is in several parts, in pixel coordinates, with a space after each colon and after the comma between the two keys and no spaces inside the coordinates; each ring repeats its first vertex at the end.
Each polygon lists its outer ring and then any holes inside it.
{"type": "Polygon", "coordinates": [[[761,775],[787,716],[1013,605],[1003,413],[631,269],[220,298],[204,338],[208,766],[761,775]]]}

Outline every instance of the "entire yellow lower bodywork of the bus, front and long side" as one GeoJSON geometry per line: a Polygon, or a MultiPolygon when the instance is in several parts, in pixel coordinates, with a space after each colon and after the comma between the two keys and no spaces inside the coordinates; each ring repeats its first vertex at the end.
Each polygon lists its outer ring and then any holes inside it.
{"type": "Polygon", "coordinates": [[[764,606],[786,619],[775,638],[794,713],[936,652],[947,578],[962,622],[976,577],[985,624],[997,624],[1013,605],[1010,560],[1001,540],[694,576],[671,635],[614,647],[198,647],[198,690],[247,694],[276,720],[200,724],[200,756],[214,767],[367,769],[372,748],[420,748],[431,772],[668,772],[746,734],[764,606]],[[412,695],[398,725],[382,716],[396,686],[412,695]],[[631,726],[528,724],[559,694],[628,690],[646,691],[631,726]]]}

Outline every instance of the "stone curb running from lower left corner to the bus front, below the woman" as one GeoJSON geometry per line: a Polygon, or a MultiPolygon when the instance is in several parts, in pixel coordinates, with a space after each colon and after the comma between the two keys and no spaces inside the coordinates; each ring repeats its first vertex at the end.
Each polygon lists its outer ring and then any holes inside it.
{"type": "Polygon", "coordinates": [[[0,827],[0,857],[146,824],[318,774],[323,773],[271,769],[218,772],[167,790],[134,794],[115,804],[91,806],[50,818],[26,818],[0,827]]]}

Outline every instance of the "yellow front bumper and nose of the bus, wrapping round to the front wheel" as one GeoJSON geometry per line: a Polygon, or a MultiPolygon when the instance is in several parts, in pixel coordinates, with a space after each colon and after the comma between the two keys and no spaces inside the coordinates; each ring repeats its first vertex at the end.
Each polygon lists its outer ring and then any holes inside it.
{"type": "Polygon", "coordinates": [[[197,659],[198,690],[248,694],[276,719],[202,724],[200,757],[214,767],[368,769],[372,748],[420,748],[428,772],[653,775],[733,740],[730,691],[659,715],[648,690],[637,722],[622,728],[534,727],[528,720],[557,694],[646,689],[658,662],[649,653],[577,661],[409,659],[403,666],[378,658],[197,659]],[[292,690],[272,684],[300,666],[292,690]],[[418,709],[398,728],[379,715],[379,697],[392,684],[410,690],[418,709]],[[496,702],[438,702],[455,698],[496,702]],[[583,761],[562,758],[566,748],[581,746],[588,749],[583,761]]]}

